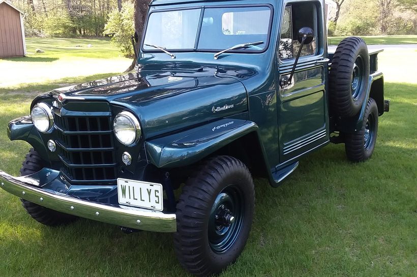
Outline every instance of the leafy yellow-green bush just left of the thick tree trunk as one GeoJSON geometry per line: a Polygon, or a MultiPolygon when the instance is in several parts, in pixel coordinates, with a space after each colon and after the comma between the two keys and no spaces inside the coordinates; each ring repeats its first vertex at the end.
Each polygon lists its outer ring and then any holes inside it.
{"type": "Polygon", "coordinates": [[[133,4],[124,3],[121,12],[114,10],[110,13],[107,24],[104,27],[104,35],[109,35],[111,42],[128,57],[133,57],[134,55],[131,43],[131,37],[135,33],[133,12],[133,4]]]}

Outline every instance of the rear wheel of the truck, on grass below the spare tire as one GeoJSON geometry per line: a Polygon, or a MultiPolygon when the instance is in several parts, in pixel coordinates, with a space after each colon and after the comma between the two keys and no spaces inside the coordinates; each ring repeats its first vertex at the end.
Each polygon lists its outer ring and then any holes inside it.
{"type": "Polygon", "coordinates": [[[378,133],[378,107],[375,100],[369,99],[362,128],[354,133],[345,133],[346,156],[353,162],[371,158],[378,133]]]}

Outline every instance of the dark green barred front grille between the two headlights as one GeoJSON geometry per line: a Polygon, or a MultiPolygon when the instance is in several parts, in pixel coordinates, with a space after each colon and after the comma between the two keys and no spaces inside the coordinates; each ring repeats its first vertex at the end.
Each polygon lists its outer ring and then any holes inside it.
{"type": "Polygon", "coordinates": [[[54,113],[60,170],[64,176],[72,184],[114,184],[117,171],[110,113],[67,114],[54,113]]]}

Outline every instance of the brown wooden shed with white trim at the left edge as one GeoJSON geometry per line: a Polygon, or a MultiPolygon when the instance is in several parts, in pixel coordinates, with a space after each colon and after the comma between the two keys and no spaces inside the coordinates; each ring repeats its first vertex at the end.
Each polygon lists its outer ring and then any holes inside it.
{"type": "Polygon", "coordinates": [[[0,0],[0,58],[24,55],[23,13],[10,2],[0,0]]]}

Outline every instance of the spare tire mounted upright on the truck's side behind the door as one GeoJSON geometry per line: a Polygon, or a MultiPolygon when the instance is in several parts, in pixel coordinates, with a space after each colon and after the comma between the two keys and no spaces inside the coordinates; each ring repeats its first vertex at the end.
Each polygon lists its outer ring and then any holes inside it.
{"type": "Polygon", "coordinates": [[[336,116],[359,113],[369,84],[369,54],[363,39],[349,37],[338,45],[329,74],[330,109],[336,116]]]}

